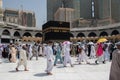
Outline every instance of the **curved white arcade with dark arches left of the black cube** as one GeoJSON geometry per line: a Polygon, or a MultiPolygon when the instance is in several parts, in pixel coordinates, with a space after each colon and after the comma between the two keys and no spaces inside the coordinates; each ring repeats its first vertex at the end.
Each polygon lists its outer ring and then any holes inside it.
{"type": "Polygon", "coordinates": [[[0,22],[0,43],[42,42],[42,30],[37,27],[25,27],[10,22],[0,22]]]}

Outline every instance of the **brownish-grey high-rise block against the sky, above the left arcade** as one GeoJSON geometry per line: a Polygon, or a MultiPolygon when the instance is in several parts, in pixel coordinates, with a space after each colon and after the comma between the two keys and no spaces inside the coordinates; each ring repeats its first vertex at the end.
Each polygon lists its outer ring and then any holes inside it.
{"type": "Polygon", "coordinates": [[[3,20],[5,22],[15,23],[26,27],[35,27],[35,13],[30,11],[5,9],[3,11],[3,20]]]}

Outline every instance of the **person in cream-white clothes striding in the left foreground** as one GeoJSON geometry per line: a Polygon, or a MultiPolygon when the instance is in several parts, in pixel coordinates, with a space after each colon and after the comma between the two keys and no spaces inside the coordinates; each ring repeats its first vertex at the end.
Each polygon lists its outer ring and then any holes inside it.
{"type": "Polygon", "coordinates": [[[19,71],[18,70],[18,68],[19,68],[19,66],[21,66],[21,65],[24,65],[24,67],[25,67],[25,71],[28,71],[28,69],[27,69],[27,55],[26,55],[27,53],[26,53],[26,45],[25,44],[23,44],[22,45],[22,49],[20,49],[20,58],[19,58],[19,62],[18,62],[18,65],[17,65],[17,67],[16,67],[16,71],[19,71]]]}

